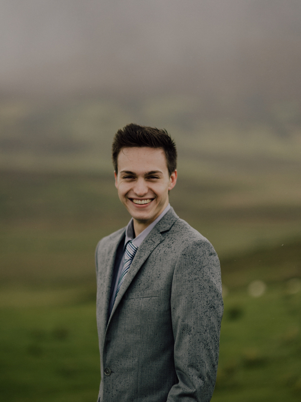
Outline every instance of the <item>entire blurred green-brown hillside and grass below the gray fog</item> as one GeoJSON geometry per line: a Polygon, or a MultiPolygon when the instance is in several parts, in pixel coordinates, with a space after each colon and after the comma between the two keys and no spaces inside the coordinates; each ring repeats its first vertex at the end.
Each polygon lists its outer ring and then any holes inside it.
{"type": "Polygon", "coordinates": [[[1,400],[96,400],[94,250],[130,219],[110,146],[131,121],[176,139],[171,205],[220,256],[225,314],[213,401],[300,399],[300,125],[284,106],[273,125],[203,121],[197,110],[183,96],[132,106],[2,100],[1,400]]]}

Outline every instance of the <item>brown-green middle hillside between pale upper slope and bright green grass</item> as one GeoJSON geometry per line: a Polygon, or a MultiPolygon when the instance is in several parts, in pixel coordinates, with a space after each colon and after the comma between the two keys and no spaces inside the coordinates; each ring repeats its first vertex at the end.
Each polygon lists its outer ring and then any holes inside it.
{"type": "MultiPolygon", "coordinates": [[[[130,218],[113,175],[2,171],[0,180],[2,281],[94,279],[98,240],[130,218]]],[[[300,205],[272,199],[256,204],[256,196],[254,184],[180,175],[170,199],[179,216],[206,236],[221,258],[301,237],[300,205]]]]}

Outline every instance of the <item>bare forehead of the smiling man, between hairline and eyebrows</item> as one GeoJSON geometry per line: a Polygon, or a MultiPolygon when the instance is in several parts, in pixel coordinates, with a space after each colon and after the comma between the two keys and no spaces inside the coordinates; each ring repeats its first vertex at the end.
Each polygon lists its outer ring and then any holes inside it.
{"type": "Polygon", "coordinates": [[[117,158],[118,171],[146,172],[167,170],[167,160],[162,148],[122,148],[117,158]]]}

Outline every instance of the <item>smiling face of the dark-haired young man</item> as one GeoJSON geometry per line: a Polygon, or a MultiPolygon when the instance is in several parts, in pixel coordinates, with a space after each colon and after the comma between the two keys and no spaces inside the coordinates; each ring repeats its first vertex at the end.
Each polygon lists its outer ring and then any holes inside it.
{"type": "Polygon", "coordinates": [[[152,223],[169,203],[168,191],[177,181],[169,176],[161,148],[123,148],[117,158],[115,186],[120,201],[137,222],[152,223]]]}

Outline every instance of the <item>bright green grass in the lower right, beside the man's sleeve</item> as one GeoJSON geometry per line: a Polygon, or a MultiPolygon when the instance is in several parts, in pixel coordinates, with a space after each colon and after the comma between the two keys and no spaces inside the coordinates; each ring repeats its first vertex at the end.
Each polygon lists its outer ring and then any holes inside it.
{"type": "Polygon", "coordinates": [[[258,298],[242,289],[225,298],[212,401],[300,400],[300,304],[300,292],[283,285],[258,298]]]}

